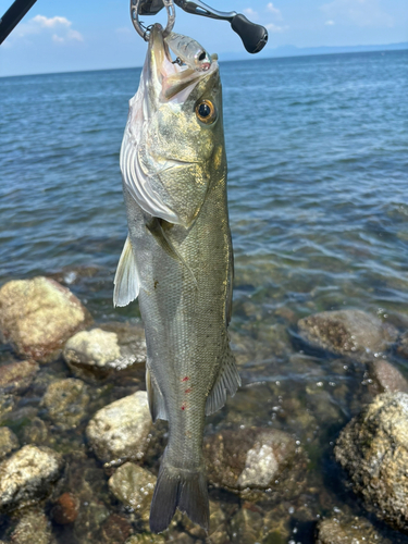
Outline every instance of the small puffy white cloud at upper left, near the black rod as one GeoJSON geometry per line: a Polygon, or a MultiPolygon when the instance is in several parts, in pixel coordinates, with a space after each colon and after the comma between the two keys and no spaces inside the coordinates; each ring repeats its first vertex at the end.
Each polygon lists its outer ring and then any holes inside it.
{"type": "Polygon", "coordinates": [[[72,28],[72,22],[66,17],[46,17],[45,15],[36,15],[27,23],[23,23],[15,28],[13,37],[24,38],[26,36],[49,35],[55,44],[65,41],[84,41],[84,38],[78,30],[72,28]]]}

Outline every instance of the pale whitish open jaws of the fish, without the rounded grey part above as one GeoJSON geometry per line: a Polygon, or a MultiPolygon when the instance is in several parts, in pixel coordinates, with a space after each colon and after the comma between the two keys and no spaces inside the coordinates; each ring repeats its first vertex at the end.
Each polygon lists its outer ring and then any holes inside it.
{"type": "Polygon", "coordinates": [[[173,61],[160,24],[151,29],[149,52],[149,79],[160,101],[184,102],[198,82],[218,69],[215,57],[205,72],[173,61]]]}

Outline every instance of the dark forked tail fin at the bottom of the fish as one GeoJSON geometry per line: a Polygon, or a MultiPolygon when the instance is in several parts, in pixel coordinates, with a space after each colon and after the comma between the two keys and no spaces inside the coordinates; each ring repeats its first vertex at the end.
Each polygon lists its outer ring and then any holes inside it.
{"type": "Polygon", "coordinates": [[[198,471],[177,469],[165,462],[164,455],[151,500],[151,532],[161,533],[168,529],[176,508],[208,531],[210,512],[203,468],[198,471]]]}

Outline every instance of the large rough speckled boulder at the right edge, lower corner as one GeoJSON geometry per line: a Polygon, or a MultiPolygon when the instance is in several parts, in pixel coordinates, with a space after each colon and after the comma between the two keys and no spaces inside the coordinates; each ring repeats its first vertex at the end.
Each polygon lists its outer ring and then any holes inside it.
{"type": "Polygon", "coordinates": [[[334,453],[366,507],[408,531],[408,395],[375,397],[342,431],[334,453]]]}

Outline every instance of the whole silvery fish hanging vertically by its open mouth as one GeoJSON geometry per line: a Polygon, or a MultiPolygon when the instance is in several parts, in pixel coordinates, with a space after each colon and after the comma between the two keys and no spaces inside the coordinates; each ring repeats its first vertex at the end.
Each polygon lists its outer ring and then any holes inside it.
{"type": "Polygon", "coordinates": [[[150,530],[164,531],[178,508],[208,531],[205,420],[240,385],[227,332],[234,264],[217,54],[152,27],[120,165],[128,236],[113,301],[138,298],[149,409],[169,421],[150,530]]]}

